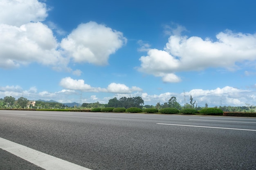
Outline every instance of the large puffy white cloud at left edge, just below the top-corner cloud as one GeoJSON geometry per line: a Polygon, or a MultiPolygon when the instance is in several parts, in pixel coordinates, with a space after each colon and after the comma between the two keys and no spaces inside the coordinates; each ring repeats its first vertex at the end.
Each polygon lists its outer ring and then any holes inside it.
{"type": "Polygon", "coordinates": [[[38,62],[45,65],[67,64],[56,50],[58,43],[46,25],[28,23],[20,27],[0,24],[0,67],[15,68],[38,62]]]}

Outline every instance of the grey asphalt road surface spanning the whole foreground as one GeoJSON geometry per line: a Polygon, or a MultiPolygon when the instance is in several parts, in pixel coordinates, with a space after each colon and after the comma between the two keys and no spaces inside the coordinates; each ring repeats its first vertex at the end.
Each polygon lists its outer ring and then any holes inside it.
{"type": "MultiPolygon", "coordinates": [[[[0,110],[1,138],[92,170],[256,170],[252,130],[250,117],[0,110]]],[[[0,169],[42,168],[0,149],[0,169]]]]}

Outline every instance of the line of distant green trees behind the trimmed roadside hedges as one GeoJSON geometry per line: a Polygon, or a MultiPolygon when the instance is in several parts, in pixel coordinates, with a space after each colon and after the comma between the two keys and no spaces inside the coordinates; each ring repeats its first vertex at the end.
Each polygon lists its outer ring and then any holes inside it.
{"type": "MultiPolygon", "coordinates": [[[[43,102],[36,101],[35,106],[28,105],[29,100],[24,97],[20,97],[17,100],[15,97],[6,96],[3,99],[0,99],[0,108],[35,108],[35,109],[49,109],[49,108],[68,108],[64,104],[58,102],[43,102]]],[[[160,104],[157,102],[155,106],[153,105],[144,105],[144,100],[137,97],[121,97],[117,99],[114,97],[109,99],[108,104],[101,104],[99,102],[95,103],[83,103],[81,106],[73,106],[72,108],[76,109],[84,109],[84,108],[105,108],[105,107],[114,107],[114,108],[177,108],[178,110],[182,110],[183,108],[193,108],[195,110],[201,110],[202,108],[208,108],[208,104],[205,103],[204,107],[197,106],[196,101],[190,95],[190,102],[181,106],[177,102],[176,97],[171,97],[168,101],[164,102],[164,104],[160,104]]],[[[250,104],[246,104],[246,106],[215,106],[215,108],[219,108],[224,112],[256,112],[256,107],[250,104]]]]}

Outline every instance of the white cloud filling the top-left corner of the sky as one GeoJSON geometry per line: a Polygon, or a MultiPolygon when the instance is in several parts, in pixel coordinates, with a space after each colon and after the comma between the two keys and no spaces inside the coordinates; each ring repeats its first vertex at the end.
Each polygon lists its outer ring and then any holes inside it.
{"type": "Polygon", "coordinates": [[[0,23],[21,26],[29,22],[44,21],[47,7],[38,0],[1,0],[0,23]]]}

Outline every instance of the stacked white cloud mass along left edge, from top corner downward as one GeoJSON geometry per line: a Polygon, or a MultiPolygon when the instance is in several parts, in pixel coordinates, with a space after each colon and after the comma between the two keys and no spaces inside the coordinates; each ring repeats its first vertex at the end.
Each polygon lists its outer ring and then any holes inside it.
{"type": "Polygon", "coordinates": [[[40,21],[47,17],[46,4],[38,0],[0,2],[0,67],[17,68],[38,62],[62,69],[69,62],[58,50],[52,30],[40,21]]]}

